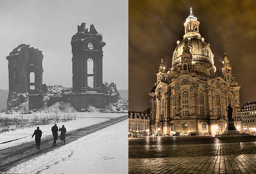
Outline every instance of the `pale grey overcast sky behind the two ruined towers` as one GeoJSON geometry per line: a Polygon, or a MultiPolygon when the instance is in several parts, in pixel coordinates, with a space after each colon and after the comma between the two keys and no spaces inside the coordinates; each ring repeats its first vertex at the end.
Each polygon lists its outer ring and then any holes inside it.
{"type": "Polygon", "coordinates": [[[8,89],[5,57],[25,43],[44,55],[43,83],[72,87],[71,38],[94,24],[103,41],[103,82],[128,90],[127,0],[0,1],[0,88],[8,89]]]}

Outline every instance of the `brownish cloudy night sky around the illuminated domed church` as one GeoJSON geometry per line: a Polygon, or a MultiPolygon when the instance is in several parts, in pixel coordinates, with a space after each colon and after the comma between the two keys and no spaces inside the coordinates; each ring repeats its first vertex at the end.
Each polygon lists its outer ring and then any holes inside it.
{"type": "Polygon", "coordinates": [[[129,0],[129,110],[150,106],[148,93],[156,82],[161,59],[172,66],[177,40],[184,35],[190,7],[199,32],[210,43],[218,76],[224,52],[240,88],[240,105],[256,101],[255,0],[129,0]]]}

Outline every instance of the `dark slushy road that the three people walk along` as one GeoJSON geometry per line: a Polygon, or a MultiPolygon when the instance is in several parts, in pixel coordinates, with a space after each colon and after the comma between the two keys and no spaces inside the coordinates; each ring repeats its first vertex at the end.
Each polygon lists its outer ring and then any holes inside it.
{"type": "MultiPolygon", "coordinates": [[[[87,134],[94,133],[100,129],[109,127],[110,125],[116,124],[126,119],[127,115],[110,119],[109,121],[106,121],[104,123],[95,124],[89,127],[70,131],[66,134],[66,144],[75,141],[83,136],[86,136],[87,134]]],[[[14,146],[12,148],[0,150],[0,173],[8,169],[11,169],[14,166],[17,166],[20,163],[24,163],[34,157],[38,157],[42,154],[45,154],[46,152],[50,152],[54,149],[57,149],[61,146],[61,141],[59,140],[59,137],[57,140],[56,147],[53,146],[52,143],[53,137],[48,136],[41,140],[40,150],[37,150],[35,148],[34,141],[33,143],[29,142],[18,146],[14,146]]]]}

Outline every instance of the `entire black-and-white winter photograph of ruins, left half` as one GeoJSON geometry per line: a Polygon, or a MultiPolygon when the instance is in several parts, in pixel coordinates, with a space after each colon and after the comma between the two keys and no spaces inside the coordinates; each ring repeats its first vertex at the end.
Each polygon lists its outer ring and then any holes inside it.
{"type": "Polygon", "coordinates": [[[128,173],[128,1],[0,13],[0,173],[128,173]]]}

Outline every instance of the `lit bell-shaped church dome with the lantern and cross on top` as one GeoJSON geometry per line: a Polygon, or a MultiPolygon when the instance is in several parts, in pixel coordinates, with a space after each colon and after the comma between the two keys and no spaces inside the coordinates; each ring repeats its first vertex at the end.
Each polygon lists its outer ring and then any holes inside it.
{"type": "Polygon", "coordinates": [[[182,41],[177,41],[177,46],[173,52],[172,66],[181,63],[181,55],[183,54],[183,47],[187,41],[187,45],[190,47],[190,53],[192,55],[192,64],[196,62],[207,62],[214,67],[214,54],[210,49],[210,44],[205,42],[205,39],[201,37],[199,33],[199,21],[192,13],[186,18],[184,23],[185,34],[182,41]]]}

